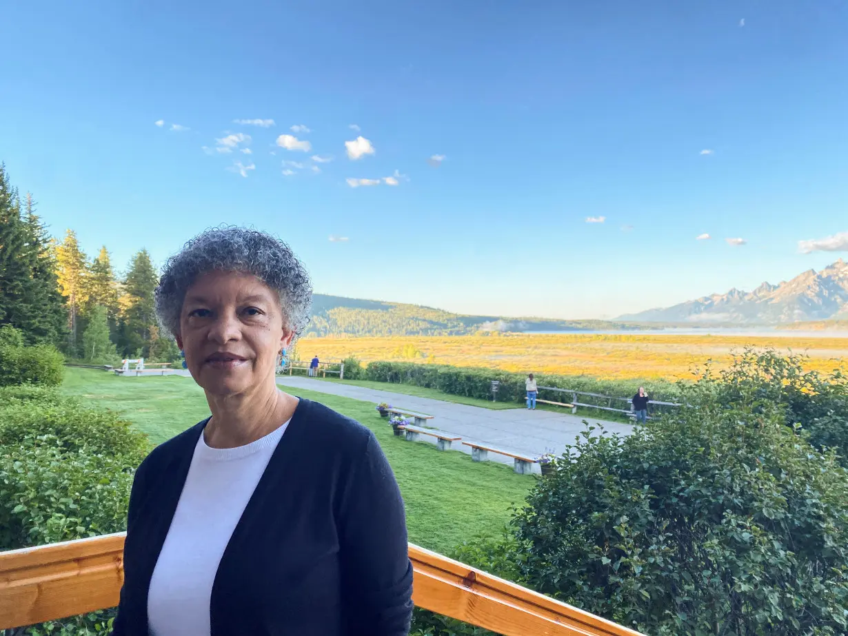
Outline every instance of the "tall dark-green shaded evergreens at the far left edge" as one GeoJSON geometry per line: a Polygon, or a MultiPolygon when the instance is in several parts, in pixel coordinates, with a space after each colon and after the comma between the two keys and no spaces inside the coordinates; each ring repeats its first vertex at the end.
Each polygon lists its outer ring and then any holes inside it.
{"type": "Polygon", "coordinates": [[[27,343],[58,343],[63,322],[47,232],[31,195],[22,218],[18,192],[0,164],[0,323],[19,328],[27,343]]]}

